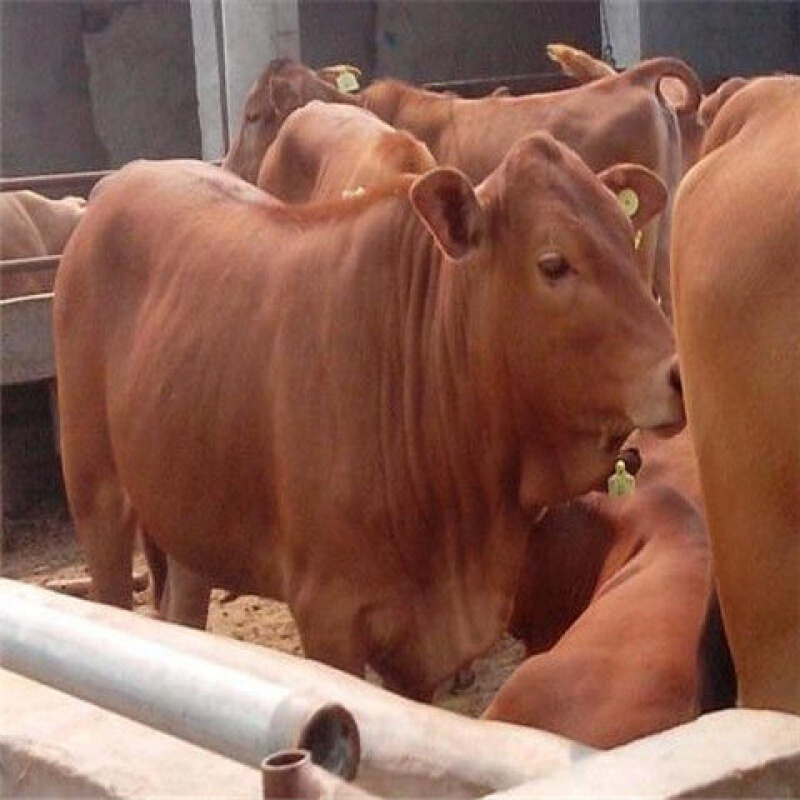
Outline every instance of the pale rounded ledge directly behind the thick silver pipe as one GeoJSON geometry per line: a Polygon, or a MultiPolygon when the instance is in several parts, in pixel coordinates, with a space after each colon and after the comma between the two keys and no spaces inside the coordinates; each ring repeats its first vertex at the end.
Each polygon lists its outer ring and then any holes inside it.
{"type": "MultiPolygon", "coordinates": [[[[21,607],[31,592],[0,581],[0,606],[21,607]]],[[[42,603],[42,590],[34,595],[42,603]]],[[[359,785],[393,797],[479,797],[547,775],[591,753],[560,736],[502,722],[469,719],[414,703],[310,659],[258,645],[220,639],[204,631],[165,625],[119,609],[55,593],[47,604],[68,608],[84,625],[100,620],[134,641],[160,642],[271,684],[316,693],[346,706],[358,720],[359,785]]],[[[0,614],[0,626],[3,625],[0,614]]],[[[0,632],[0,645],[2,633],[0,632]]],[[[80,658],[80,656],[78,656],[80,658]]],[[[281,748],[267,750],[266,754],[281,748]]],[[[262,753],[263,755],[263,753],[262,753]]]]}

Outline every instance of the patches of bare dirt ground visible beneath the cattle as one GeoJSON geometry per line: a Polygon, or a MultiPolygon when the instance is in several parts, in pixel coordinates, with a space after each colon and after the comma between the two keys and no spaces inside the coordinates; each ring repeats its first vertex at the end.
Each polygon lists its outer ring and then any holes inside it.
{"type": "MultiPolygon", "coordinates": [[[[3,534],[0,561],[3,577],[44,585],[54,579],[86,575],[68,512],[58,499],[42,504],[26,514],[24,520],[6,521],[3,534]]],[[[134,572],[144,569],[144,559],[138,555],[134,572]]],[[[136,611],[148,608],[148,590],[135,595],[134,600],[136,611]]],[[[226,592],[215,590],[209,630],[302,655],[297,629],[286,605],[262,597],[230,599],[226,592]]],[[[468,716],[480,715],[522,657],[522,645],[504,637],[486,657],[475,662],[472,686],[459,691],[443,688],[435,704],[468,716]]],[[[370,680],[378,682],[375,676],[370,676],[370,680]]]]}

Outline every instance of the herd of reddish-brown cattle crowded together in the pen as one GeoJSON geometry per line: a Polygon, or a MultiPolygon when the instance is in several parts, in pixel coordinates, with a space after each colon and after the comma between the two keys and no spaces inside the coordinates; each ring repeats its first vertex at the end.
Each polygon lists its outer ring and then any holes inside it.
{"type": "Polygon", "coordinates": [[[95,187],[54,335],[97,600],[139,536],[163,617],[285,600],[417,699],[510,630],[490,719],[800,713],[800,79],[550,52],[576,88],[479,99],[277,60],[221,168],[95,187]]]}

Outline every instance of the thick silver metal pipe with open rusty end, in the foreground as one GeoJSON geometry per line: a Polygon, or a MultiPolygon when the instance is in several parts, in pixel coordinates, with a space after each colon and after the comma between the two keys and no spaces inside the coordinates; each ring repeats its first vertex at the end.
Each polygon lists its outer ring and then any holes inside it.
{"type": "Polygon", "coordinates": [[[0,579],[0,666],[256,769],[301,747],[354,777],[359,733],[342,705],[116,629],[87,608],[98,607],[0,579]]]}

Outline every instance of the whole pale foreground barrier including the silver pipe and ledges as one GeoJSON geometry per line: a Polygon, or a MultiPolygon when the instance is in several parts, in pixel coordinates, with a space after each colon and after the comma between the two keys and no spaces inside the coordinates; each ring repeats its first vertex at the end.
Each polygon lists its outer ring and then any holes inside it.
{"type": "Polygon", "coordinates": [[[0,694],[0,795],[10,798],[63,796],[76,783],[80,796],[130,800],[800,796],[800,717],[722,711],[599,752],[9,579],[0,579],[0,694]],[[344,775],[360,754],[355,786],[314,772],[303,745],[344,775]]]}

